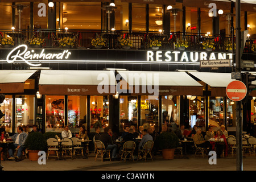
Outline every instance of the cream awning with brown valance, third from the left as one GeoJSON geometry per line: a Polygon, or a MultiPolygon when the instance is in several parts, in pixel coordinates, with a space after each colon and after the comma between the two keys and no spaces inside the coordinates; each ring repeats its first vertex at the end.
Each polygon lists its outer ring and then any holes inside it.
{"type": "Polygon", "coordinates": [[[118,71],[134,95],[180,96],[203,94],[203,86],[185,72],[118,71]]]}

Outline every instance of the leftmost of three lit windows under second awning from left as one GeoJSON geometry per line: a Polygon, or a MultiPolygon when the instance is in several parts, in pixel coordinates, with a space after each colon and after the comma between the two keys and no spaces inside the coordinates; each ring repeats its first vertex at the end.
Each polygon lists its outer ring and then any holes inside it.
{"type": "Polygon", "coordinates": [[[46,96],[46,132],[63,131],[64,106],[64,96],[46,96]]]}

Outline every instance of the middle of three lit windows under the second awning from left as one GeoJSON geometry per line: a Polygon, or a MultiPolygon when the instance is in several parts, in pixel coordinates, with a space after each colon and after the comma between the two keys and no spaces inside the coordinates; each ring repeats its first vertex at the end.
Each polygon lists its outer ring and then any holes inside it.
{"type": "Polygon", "coordinates": [[[86,96],[68,96],[68,126],[71,132],[79,132],[86,126],[86,96]]]}

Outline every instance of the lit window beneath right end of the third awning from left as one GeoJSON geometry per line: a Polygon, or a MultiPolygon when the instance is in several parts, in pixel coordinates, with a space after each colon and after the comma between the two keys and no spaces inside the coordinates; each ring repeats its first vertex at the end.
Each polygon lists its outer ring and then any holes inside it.
{"type": "Polygon", "coordinates": [[[189,125],[199,126],[202,131],[205,130],[205,98],[197,96],[192,96],[189,100],[189,125]]]}

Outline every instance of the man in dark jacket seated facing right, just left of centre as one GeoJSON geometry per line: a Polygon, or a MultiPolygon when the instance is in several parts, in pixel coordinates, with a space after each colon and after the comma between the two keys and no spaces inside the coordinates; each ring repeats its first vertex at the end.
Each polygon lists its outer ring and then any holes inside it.
{"type": "Polygon", "coordinates": [[[104,133],[100,136],[99,140],[104,143],[106,150],[112,150],[112,160],[117,160],[117,145],[113,144],[110,133],[112,133],[112,129],[105,127],[104,133]]]}

